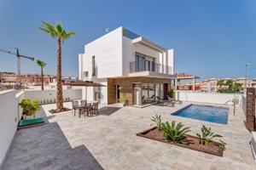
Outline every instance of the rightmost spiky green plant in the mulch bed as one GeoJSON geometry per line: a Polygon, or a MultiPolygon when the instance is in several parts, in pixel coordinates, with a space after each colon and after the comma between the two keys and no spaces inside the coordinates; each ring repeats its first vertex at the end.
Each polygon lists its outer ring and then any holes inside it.
{"type": "Polygon", "coordinates": [[[206,127],[205,125],[201,127],[201,134],[196,133],[196,135],[200,138],[200,143],[204,145],[209,145],[213,138],[222,137],[221,135],[212,132],[211,127],[206,127]]]}

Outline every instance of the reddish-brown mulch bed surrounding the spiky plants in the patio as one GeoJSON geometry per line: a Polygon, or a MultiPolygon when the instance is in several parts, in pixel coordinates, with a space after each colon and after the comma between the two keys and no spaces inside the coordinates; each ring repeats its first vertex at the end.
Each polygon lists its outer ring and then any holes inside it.
{"type": "Polygon", "coordinates": [[[223,156],[223,151],[218,145],[218,142],[212,141],[209,145],[200,144],[200,139],[196,136],[192,136],[186,134],[185,137],[189,140],[189,144],[178,144],[170,141],[166,141],[164,139],[164,133],[160,132],[157,127],[149,128],[148,130],[143,131],[142,133],[137,133],[137,136],[154,139],[160,142],[164,142],[166,144],[174,144],[183,148],[187,148],[190,150],[197,150],[201,152],[205,152],[207,154],[212,154],[214,156],[223,156]]]}

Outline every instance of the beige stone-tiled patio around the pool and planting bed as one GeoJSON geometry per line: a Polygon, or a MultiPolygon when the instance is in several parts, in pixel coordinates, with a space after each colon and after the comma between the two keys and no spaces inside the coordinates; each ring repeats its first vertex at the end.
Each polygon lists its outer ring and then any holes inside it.
{"type": "MultiPolygon", "coordinates": [[[[70,104],[66,104],[70,106],[70,104]]],[[[250,149],[250,133],[245,116],[230,107],[228,125],[170,116],[175,108],[152,105],[143,109],[102,106],[101,115],[84,119],[67,113],[50,115],[44,105],[41,114],[49,124],[19,130],[4,169],[256,169],[250,149]],[[45,111],[45,112],[44,112],[45,111]],[[137,137],[151,124],[150,117],[177,120],[197,133],[202,124],[224,136],[228,144],[224,156],[212,156],[172,144],[137,137]]]]}

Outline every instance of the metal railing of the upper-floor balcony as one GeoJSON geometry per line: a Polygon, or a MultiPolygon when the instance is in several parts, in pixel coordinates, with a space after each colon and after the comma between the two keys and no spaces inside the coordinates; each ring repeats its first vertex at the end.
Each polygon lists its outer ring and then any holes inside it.
{"type": "Polygon", "coordinates": [[[146,61],[143,63],[137,63],[136,61],[130,62],[130,73],[141,71],[172,74],[172,66],[160,65],[160,63],[155,63],[152,61],[146,61]]]}

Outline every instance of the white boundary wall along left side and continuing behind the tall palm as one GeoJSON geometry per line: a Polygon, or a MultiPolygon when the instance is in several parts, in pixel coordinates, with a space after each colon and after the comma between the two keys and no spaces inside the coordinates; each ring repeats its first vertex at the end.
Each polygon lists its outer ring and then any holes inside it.
{"type": "MultiPolygon", "coordinates": [[[[22,110],[19,103],[24,98],[40,101],[54,100],[55,90],[27,90],[17,93],[16,90],[0,92],[0,169],[14,139],[17,124],[21,118],[22,110]]],[[[82,89],[63,89],[63,99],[82,99],[82,89]]]]}

